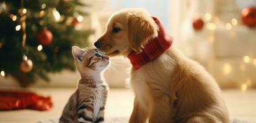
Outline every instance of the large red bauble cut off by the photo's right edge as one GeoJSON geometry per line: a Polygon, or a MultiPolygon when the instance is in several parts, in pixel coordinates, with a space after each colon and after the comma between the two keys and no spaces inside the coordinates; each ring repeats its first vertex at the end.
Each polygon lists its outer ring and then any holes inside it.
{"type": "Polygon", "coordinates": [[[256,8],[247,7],[241,12],[242,21],[245,25],[252,27],[256,26],[256,8]]]}

